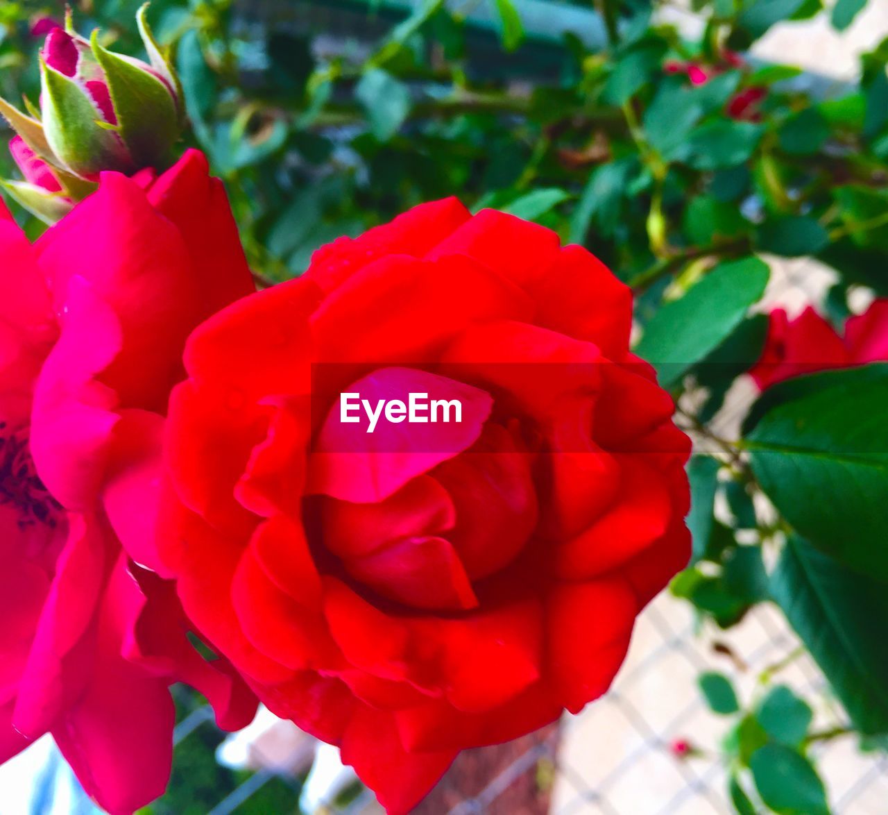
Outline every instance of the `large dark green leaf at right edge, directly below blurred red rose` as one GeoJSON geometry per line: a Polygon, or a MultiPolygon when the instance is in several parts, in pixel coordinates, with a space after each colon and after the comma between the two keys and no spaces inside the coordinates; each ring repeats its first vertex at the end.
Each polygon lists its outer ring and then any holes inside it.
{"type": "Polygon", "coordinates": [[[746,438],[767,496],[815,546],[888,580],[888,364],[799,377],[759,401],[746,438]]]}

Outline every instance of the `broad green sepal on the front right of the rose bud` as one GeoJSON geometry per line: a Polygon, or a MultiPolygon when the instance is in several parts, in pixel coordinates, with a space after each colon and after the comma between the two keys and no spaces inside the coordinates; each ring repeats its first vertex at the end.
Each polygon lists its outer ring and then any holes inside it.
{"type": "Polygon", "coordinates": [[[154,74],[99,44],[92,32],[92,54],[105,72],[117,116],[117,132],[137,167],[163,169],[178,139],[178,109],[170,88],[154,74]]]}

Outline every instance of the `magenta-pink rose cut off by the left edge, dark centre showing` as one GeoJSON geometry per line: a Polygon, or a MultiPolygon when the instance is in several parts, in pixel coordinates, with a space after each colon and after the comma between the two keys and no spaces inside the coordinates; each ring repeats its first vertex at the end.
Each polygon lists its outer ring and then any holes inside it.
{"type": "Polygon", "coordinates": [[[188,642],[172,584],[136,564],[186,335],[250,272],[196,152],[147,192],[103,174],[33,245],[0,204],[0,269],[0,762],[52,732],[87,792],[131,812],[166,787],[170,683],[230,729],[255,710],[188,642]]]}

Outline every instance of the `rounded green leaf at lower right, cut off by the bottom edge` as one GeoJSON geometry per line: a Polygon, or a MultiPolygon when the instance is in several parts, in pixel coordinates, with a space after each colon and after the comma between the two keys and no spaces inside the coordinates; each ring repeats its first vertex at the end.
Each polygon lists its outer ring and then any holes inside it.
{"type": "Polygon", "coordinates": [[[804,755],[766,744],[749,759],[758,795],[779,815],[829,815],[826,790],[804,755]]]}

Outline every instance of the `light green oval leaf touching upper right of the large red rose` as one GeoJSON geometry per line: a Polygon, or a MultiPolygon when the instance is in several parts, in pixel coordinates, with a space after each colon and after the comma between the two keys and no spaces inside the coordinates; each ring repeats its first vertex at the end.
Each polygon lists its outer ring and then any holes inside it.
{"type": "Polygon", "coordinates": [[[762,260],[720,263],[684,297],[654,314],[636,352],[654,365],[664,386],[674,384],[733,332],[767,282],[762,260]]]}

